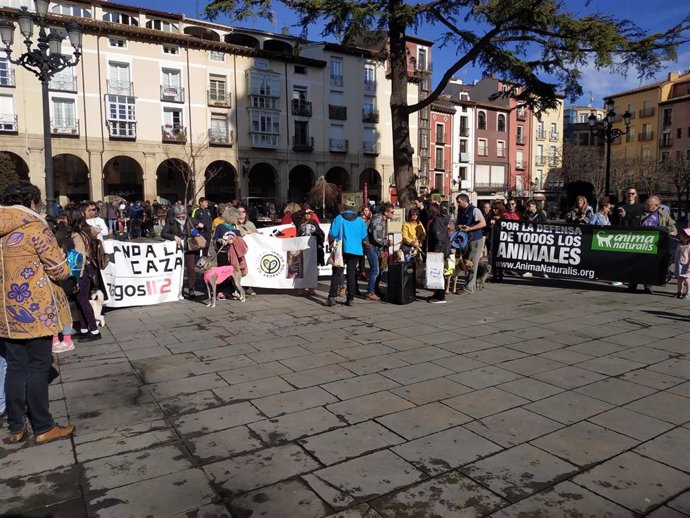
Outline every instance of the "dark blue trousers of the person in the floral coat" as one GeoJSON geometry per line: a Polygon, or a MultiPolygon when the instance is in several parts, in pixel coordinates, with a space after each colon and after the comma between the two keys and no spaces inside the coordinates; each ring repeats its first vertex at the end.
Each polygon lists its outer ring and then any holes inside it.
{"type": "Polygon", "coordinates": [[[55,426],[50,415],[48,383],[52,362],[51,337],[16,340],[3,338],[7,360],[7,422],[10,433],[21,432],[29,416],[34,435],[55,426]]]}

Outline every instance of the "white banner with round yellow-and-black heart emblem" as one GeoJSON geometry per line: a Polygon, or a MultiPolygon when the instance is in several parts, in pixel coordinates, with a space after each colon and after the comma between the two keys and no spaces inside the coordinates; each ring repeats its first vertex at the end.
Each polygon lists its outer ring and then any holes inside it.
{"type": "Polygon", "coordinates": [[[315,237],[279,238],[253,233],[245,235],[244,241],[249,271],[242,277],[242,286],[292,289],[318,285],[315,237]]]}

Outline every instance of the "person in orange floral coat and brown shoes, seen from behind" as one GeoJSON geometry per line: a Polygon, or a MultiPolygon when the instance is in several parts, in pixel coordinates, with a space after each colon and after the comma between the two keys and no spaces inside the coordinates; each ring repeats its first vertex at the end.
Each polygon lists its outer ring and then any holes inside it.
{"type": "Polygon", "coordinates": [[[10,443],[27,437],[25,416],[37,444],[74,432],[74,426],[53,421],[48,402],[52,336],[72,319],[57,284],[69,277],[69,265],[50,228],[35,212],[40,196],[27,181],[8,185],[0,196],[0,342],[7,360],[10,443]]]}

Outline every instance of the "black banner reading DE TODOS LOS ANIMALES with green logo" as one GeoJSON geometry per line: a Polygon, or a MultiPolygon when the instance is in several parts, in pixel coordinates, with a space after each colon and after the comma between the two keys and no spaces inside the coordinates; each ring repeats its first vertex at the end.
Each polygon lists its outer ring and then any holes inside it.
{"type": "Polygon", "coordinates": [[[637,284],[666,282],[670,259],[666,230],[501,220],[492,231],[494,271],[637,284]]]}

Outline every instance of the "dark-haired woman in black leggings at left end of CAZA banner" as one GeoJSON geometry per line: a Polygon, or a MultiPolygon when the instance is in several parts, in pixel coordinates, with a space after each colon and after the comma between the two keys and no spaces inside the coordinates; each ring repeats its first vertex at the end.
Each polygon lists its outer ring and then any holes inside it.
{"type": "Polygon", "coordinates": [[[98,275],[98,229],[94,231],[94,227],[86,222],[84,215],[79,209],[65,209],[62,215],[67,220],[67,228],[72,232],[74,249],[84,257],[75,296],[75,302],[81,317],[79,321],[79,343],[93,342],[101,339],[98,322],[96,322],[93,308],[89,302],[91,288],[96,285],[94,280],[96,275],[98,275]]]}

